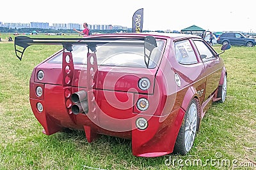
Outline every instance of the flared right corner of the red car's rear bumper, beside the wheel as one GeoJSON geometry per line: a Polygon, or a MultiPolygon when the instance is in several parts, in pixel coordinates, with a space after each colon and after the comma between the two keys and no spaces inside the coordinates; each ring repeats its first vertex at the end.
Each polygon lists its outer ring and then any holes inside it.
{"type": "Polygon", "coordinates": [[[179,108],[166,117],[151,117],[145,131],[134,128],[132,154],[138,157],[159,157],[172,153],[184,114],[184,110],[179,108]]]}

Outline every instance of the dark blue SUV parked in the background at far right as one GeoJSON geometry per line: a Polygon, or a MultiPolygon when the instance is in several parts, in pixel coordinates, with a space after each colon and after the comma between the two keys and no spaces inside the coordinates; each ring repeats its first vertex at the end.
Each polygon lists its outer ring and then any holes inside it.
{"type": "Polygon", "coordinates": [[[243,45],[252,47],[256,45],[256,39],[246,38],[240,32],[224,32],[218,37],[217,43],[222,45],[225,43],[230,43],[230,45],[243,45]]]}

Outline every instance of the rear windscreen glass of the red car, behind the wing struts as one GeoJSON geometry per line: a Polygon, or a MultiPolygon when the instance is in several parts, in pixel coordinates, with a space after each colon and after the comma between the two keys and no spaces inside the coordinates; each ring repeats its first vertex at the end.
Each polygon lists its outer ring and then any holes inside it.
{"type": "MultiPolygon", "coordinates": [[[[129,41],[129,40],[128,40],[129,41]]],[[[130,40],[131,41],[131,40],[130,40]]],[[[134,40],[132,40],[134,41],[134,40]]],[[[157,40],[157,47],[150,56],[148,68],[155,68],[163,54],[164,40],[157,40]]],[[[72,46],[72,57],[74,64],[86,64],[88,48],[86,45],[72,46]]],[[[99,66],[122,66],[122,67],[143,67],[147,68],[144,57],[144,44],[141,43],[108,43],[96,46],[97,62],[99,66]]],[[[52,58],[50,63],[61,63],[62,53],[52,58]]]]}

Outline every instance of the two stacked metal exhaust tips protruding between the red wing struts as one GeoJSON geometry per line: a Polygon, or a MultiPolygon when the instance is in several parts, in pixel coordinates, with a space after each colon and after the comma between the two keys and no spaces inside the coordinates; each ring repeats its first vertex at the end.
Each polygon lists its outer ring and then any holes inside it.
{"type": "Polygon", "coordinates": [[[71,101],[74,103],[71,110],[75,115],[78,115],[79,113],[88,113],[88,97],[86,91],[81,90],[75,92],[71,95],[71,101]]]}

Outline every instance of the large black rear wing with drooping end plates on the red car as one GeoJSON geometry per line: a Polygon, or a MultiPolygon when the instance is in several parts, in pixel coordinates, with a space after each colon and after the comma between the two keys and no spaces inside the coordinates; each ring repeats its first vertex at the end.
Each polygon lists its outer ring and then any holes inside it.
{"type": "MultiPolygon", "coordinates": [[[[157,47],[156,39],[152,36],[146,36],[145,38],[134,38],[134,37],[122,37],[122,38],[109,38],[109,37],[102,37],[102,38],[30,38],[27,36],[17,36],[15,37],[14,46],[15,46],[15,54],[21,60],[24,54],[24,51],[30,45],[62,45],[63,48],[68,50],[69,52],[72,51],[72,45],[87,45],[88,50],[92,50],[94,52],[96,50],[96,46],[99,44],[106,44],[106,43],[118,43],[122,44],[138,44],[144,43],[144,52],[149,51],[150,54],[152,50],[157,47]],[[129,39],[130,41],[125,41],[125,39],[129,39]],[[140,41],[131,41],[140,40],[140,41]]],[[[145,58],[148,58],[148,62],[150,59],[150,55],[145,53],[145,58]]],[[[146,59],[145,59],[146,62],[146,59]]],[[[148,63],[146,63],[148,66],[148,63]]]]}

